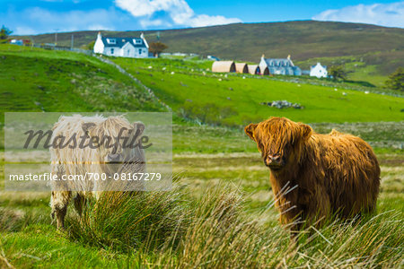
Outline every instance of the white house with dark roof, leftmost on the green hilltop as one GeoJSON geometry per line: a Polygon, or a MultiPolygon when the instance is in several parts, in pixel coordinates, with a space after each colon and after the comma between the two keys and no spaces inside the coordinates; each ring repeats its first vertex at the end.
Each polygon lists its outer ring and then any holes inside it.
{"type": "Polygon", "coordinates": [[[99,32],[93,51],[107,56],[146,58],[149,56],[149,45],[143,33],[139,39],[102,37],[99,32]]]}

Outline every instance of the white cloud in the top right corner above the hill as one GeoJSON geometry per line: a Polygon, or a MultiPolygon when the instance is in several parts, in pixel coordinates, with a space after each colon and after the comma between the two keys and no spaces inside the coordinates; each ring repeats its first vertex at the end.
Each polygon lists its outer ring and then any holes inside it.
{"type": "Polygon", "coordinates": [[[362,22],[389,27],[404,27],[404,2],[358,4],[330,9],[312,17],[317,21],[362,22]]]}

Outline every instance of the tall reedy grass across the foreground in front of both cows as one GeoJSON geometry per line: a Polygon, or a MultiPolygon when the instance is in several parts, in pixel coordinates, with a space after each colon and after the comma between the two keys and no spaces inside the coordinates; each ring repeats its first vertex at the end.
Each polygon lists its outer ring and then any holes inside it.
{"type": "MultiPolygon", "coordinates": [[[[265,212],[263,213],[265,214],[265,212]]],[[[128,255],[149,267],[400,267],[403,215],[329,220],[291,240],[279,225],[245,214],[238,190],[210,187],[199,198],[186,188],[143,195],[110,193],[71,221],[68,236],[128,255]]]]}

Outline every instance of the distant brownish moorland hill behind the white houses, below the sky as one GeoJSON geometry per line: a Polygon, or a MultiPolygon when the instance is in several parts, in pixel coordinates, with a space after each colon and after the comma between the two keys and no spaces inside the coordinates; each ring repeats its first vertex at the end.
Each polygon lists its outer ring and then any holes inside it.
{"type": "MultiPolygon", "coordinates": [[[[149,42],[156,30],[145,31],[149,42]]],[[[351,79],[382,85],[387,74],[404,65],[404,30],[346,22],[235,23],[212,27],[159,30],[168,52],[215,55],[224,59],[258,62],[291,55],[303,69],[320,60],[326,65],[347,65],[351,79]],[[356,65],[357,64],[357,65],[356,65]],[[356,65],[356,66],[354,66],[356,65]],[[355,67],[355,68],[354,68],[355,67]]],[[[140,31],[102,31],[110,36],[138,36],[140,31]]],[[[78,31],[75,46],[95,40],[97,31],[78,31]]],[[[57,44],[70,47],[72,33],[58,33],[57,44]]],[[[36,43],[54,42],[54,34],[34,36],[36,43]]]]}

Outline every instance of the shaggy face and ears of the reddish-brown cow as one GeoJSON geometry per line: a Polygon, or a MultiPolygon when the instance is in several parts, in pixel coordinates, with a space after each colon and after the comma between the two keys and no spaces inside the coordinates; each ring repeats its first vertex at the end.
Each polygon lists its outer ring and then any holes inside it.
{"type": "Polygon", "coordinates": [[[312,135],[312,127],[285,117],[270,117],[259,124],[244,128],[257,143],[266,166],[271,170],[282,170],[298,160],[300,145],[312,135]]]}

